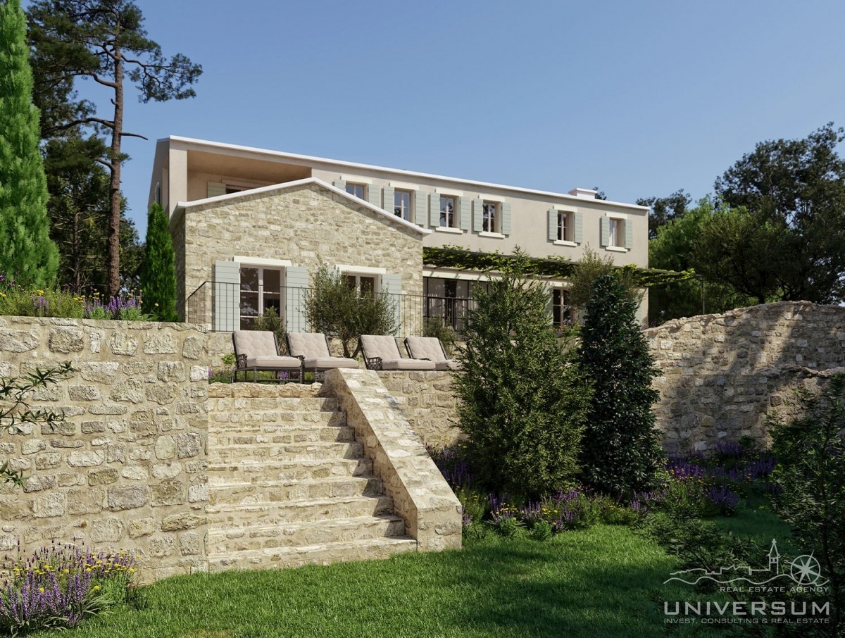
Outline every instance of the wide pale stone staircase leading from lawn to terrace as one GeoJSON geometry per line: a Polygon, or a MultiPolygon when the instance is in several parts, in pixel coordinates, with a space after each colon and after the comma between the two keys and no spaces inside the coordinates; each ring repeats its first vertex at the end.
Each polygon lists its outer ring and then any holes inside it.
{"type": "Polygon", "coordinates": [[[222,418],[209,424],[210,571],[417,550],[346,414],[318,396],[319,384],[230,388],[231,397],[212,399],[222,418]]]}

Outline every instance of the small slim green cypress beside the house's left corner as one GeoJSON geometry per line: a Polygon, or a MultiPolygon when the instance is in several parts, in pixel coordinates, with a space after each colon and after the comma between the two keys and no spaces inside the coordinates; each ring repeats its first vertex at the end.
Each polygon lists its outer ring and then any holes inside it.
{"type": "Polygon", "coordinates": [[[144,313],[160,321],[178,321],[176,267],[168,226],[164,209],[160,204],[153,204],[147,215],[147,241],[140,273],[141,292],[144,313]]]}

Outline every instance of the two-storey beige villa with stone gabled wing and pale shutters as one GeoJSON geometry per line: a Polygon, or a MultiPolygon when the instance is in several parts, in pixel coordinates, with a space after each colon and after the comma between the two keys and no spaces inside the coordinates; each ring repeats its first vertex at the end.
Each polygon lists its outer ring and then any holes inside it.
{"type": "MultiPolygon", "coordinates": [[[[211,330],[248,328],[267,308],[307,330],[304,292],[320,261],[363,291],[395,296],[401,335],[429,317],[460,327],[486,275],[423,263],[423,247],[576,261],[584,248],[648,264],[648,209],[574,188],[551,193],[199,139],[156,145],[150,204],[170,215],[177,310],[211,330]]],[[[554,324],[567,283],[547,281],[554,324]]],[[[645,319],[646,301],[640,319],[645,319]]]]}

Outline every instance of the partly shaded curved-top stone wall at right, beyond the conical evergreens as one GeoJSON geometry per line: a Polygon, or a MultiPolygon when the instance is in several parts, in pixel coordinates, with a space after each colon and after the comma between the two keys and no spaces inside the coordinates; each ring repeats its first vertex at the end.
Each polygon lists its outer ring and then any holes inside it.
{"type": "Polygon", "coordinates": [[[753,436],[799,384],[845,372],[845,308],[781,302],[646,330],[662,374],[657,423],[669,453],[753,436]]]}

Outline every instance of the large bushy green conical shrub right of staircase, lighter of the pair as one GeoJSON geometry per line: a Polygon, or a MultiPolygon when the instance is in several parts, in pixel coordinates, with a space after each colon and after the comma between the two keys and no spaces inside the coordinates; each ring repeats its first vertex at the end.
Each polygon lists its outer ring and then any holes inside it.
{"type": "Polygon", "coordinates": [[[477,292],[454,388],[482,487],[536,499],[577,475],[591,391],[551,330],[548,292],[526,281],[524,267],[517,253],[489,292],[477,292]]]}

